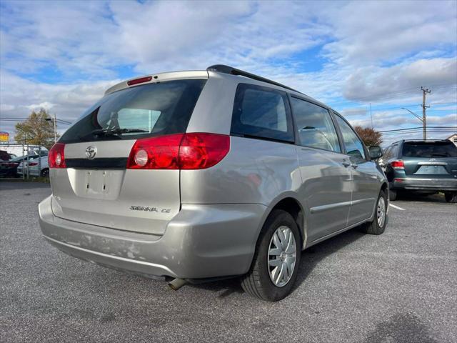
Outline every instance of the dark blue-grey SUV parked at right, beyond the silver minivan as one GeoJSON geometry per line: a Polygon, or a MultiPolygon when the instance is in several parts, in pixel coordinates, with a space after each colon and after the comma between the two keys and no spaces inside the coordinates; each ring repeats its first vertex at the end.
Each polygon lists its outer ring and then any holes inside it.
{"type": "Polygon", "coordinates": [[[379,159],[389,182],[391,200],[398,192],[443,192],[457,202],[457,147],[448,140],[402,140],[379,159]]]}

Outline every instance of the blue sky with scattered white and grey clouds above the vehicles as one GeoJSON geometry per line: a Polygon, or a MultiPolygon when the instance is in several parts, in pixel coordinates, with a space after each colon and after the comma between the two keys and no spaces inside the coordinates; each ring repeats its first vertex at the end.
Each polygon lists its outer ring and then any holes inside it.
{"type": "Polygon", "coordinates": [[[0,1],[0,118],[44,107],[73,121],[121,79],[211,64],[292,86],[353,124],[371,125],[371,104],[378,130],[421,126],[401,108],[421,114],[425,86],[428,124],[457,126],[457,1],[0,1]]]}

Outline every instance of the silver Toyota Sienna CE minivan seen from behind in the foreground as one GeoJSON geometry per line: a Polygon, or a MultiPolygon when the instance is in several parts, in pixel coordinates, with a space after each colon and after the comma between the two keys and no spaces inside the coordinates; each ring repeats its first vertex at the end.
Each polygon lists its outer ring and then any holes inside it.
{"type": "Polygon", "coordinates": [[[153,74],[112,86],[52,147],[39,222],[71,256],[174,289],[239,277],[276,301],[303,249],[352,227],[383,233],[381,154],[333,109],[261,76],[153,74]]]}

